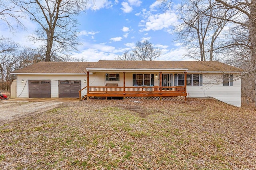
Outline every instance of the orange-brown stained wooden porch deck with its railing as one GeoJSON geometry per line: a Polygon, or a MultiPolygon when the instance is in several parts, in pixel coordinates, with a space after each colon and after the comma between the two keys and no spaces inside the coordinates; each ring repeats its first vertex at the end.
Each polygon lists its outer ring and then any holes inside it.
{"type": "MultiPolygon", "coordinates": [[[[85,87],[87,88],[87,86],[85,87]]],[[[85,89],[84,88],[84,89],[85,89]]],[[[159,86],[139,86],[139,87],[102,87],[90,86],[87,88],[87,95],[81,96],[81,89],[79,91],[80,100],[89,99],[89,97],[174,97],[184,96],[186,100],[185,87],[159,87],[159,86]]]]}

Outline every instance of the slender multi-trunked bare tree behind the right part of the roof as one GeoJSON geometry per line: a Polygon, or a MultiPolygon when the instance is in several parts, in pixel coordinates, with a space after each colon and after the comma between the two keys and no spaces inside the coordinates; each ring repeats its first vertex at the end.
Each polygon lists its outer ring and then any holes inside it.
{"type": "Polygon", "coordinates": [[[219,49],[218,36],[227,22],[213,15],[225,17],[226,11],[217,8],[213,0],[185,0],[179,11],[182,24],[175,30],[177,40],[189,51],[187,55],[195,59],[200,56],[201,61],[214,60],[214,53],[217,55],[219,49]]]}

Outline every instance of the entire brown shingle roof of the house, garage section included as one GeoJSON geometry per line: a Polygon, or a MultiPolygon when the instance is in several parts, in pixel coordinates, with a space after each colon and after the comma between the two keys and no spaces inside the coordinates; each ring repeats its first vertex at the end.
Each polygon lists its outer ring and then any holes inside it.
{"type": "Polygon", "coordinates": [[[240,72],[241,69],[218,61],[110,61],[39,62],[12,73],[84,73],[86,68],[102,69],[188,69],[190,71],[240,72]]]}

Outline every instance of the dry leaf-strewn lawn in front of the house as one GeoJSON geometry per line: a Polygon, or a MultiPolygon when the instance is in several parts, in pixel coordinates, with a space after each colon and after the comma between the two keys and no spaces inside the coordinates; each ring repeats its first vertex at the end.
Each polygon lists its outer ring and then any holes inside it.
{"type": "Polygon", "coordinates": [[[256,169],[255,141],[219,101],[90,100],[0,125],[0,169],[256,169]]]}

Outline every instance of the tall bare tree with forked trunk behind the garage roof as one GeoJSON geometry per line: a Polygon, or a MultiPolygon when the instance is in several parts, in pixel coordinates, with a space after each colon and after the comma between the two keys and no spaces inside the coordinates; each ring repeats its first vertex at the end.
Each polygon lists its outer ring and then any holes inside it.
{"type": "MultiPolygon", "coordinates": [[[[31,40],[42,41],[46,51],[45,61],[76,49],[77,21],[74,16],[85,9],[86,0],[13,0],[30,19],[38,24],[31,40]]],[[[55,59],[56,60],[56,59],[55,59]]]]}

